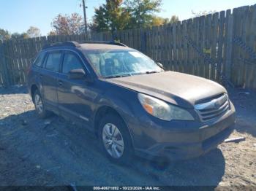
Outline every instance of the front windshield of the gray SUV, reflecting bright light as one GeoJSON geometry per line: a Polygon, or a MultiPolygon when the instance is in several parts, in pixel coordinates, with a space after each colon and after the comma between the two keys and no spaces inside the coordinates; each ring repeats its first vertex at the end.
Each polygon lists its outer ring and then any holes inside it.
{"type": "Polygon", "coordinates": [[[87,50],[85,55],[99,77],[124,77],[162,71],[151,58],[136,50],[87,50]]]}

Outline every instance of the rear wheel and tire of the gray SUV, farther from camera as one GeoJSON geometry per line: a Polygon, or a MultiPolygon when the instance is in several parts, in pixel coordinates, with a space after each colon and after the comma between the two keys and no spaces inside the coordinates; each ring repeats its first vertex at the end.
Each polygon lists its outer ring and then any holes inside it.
{"type": "Polygon", "coordinates": [[[40,118],[46,118],[50,116],[50,112],[45,109],[45,106],[42,101],[42,96],[39,93],[39,90],[35,90],[33,94],[34,108],[40,118]]]}

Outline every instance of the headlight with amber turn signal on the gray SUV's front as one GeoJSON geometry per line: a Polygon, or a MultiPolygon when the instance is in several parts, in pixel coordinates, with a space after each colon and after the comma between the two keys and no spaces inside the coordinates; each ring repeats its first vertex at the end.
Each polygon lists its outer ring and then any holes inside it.
{"type": "Polygon", "coordinates": [[[187,110],[167,104],[165,101],[142,93],[138,93],[138,99],[148,114],[161,120],[194,120],[187,110]]]}

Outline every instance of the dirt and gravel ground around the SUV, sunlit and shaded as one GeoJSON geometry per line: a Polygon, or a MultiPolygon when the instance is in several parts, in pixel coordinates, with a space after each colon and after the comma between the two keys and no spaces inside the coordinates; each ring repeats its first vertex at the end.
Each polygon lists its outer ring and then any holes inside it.
{"type": "Polygon", "coordinates": [[[230,89],[236,106],[239,143],[222,143],[208,154],[159,168],[135,158],[110,163],[97,139],[61,117],[41,120],[24,87],[0,89],[0,186],[176,185],[217,190],[256,189],[256,92],[230,89]]]}

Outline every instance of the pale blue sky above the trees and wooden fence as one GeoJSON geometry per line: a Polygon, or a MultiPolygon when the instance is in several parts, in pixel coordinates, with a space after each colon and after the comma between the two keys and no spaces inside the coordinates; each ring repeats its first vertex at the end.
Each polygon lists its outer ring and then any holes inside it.
{"type": "MultiPolygon", "coordinates": [[[[105,0],[86,0],[88,20],[94,15],[94,7],[105,0]]],[[[0,28],[11,33],[26,31],[29,26],[37,26],[42,35],[50,31],[50,23],[56,15],[78,12],[83,15],[80,7],[82,0],[0,0],[0,28]]],[[[162,0],[162,11],[157,15],[171,17],[178,15],[180,20],[192,17],[192,10],[222,11],[244,5],[256,4],[252,0],[162,0]]]]}

